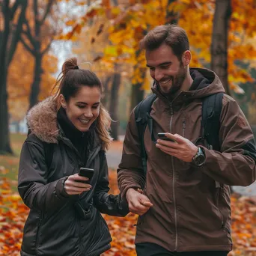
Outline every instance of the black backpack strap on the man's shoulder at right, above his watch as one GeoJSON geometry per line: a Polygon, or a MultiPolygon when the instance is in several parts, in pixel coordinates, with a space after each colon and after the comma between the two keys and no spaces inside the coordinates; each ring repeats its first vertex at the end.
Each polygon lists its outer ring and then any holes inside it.
{"type": "Polygon", "coordinates": [[[223,92],[205,97],[202,106],[203,137],[206,138],[209,148],[219,151],[220,115],[222,112],[223,92]]]}

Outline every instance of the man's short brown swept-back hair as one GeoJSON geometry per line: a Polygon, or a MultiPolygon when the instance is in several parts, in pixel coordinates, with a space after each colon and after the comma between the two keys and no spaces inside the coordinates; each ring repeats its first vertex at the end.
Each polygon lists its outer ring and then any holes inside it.
{"type": "Polygon", "coordinates": [[[174,24],[158,25],[153,28],[140,41],[139,46],[141,49],[153,50],[162,43],[170,46],[179,60],[181,60],[183,52],[189,50],[189,39],[186,31],[174,24]]]}

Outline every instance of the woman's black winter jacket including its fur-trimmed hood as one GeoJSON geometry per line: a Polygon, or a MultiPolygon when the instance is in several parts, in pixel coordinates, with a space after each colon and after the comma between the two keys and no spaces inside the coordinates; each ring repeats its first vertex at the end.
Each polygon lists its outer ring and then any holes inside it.
{"type": "Polygon", "coordinates": [[[19,162],[19,194],[30,208],[25,222],[22,256],[100,255],[110,248],[109,228],[101,213],[125,216],[129,210],[120,195],[108,195],[109,177],[105,151],[93,132],[88,160],[82,163],[71,141],[58,129],[52,98],[28,113],[31,134],[22,146],[19,162]],[[53,153],[46,161],[46,144],[53,153]],[[49,166],[48,166],[49,165],[49,166]],[[67,195],[64,181],[79,167],[94,168],[92,189],[67,195]]]}

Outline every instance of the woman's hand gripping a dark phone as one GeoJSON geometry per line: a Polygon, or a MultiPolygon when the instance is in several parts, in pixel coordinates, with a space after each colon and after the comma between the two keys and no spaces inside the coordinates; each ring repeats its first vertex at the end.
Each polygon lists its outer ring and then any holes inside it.
{"type": "Polygon", "coordinates": [[[64,182],[64,190],[68,195],[79,195],[82,192],[89,191],[91,185],[83,183],[87,180],[87,177],[79,176],[79,174],[70,175],[64,182]]]}

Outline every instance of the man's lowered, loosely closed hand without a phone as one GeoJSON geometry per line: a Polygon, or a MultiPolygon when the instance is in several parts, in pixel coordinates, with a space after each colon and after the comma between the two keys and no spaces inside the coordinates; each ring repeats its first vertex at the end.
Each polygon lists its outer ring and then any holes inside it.
{"type": "Polygon", "coordinates": [[[127,190],[127,202],[129,204],[129,211],[138,215],[147,213],[153,204],[146,195],[142,195],[141,192],[135,191],[135,189],[127,190]]]}

